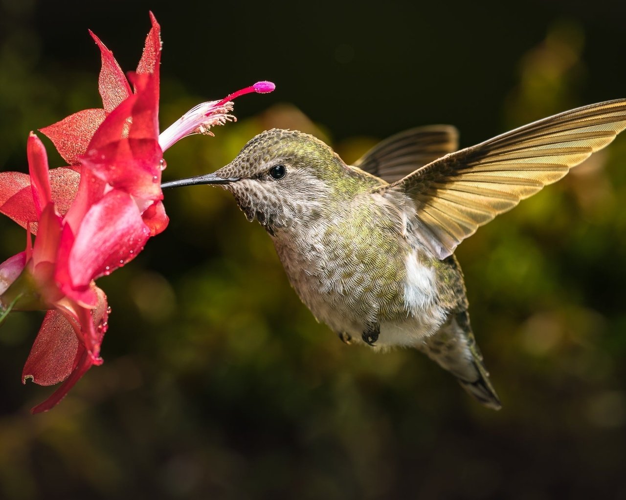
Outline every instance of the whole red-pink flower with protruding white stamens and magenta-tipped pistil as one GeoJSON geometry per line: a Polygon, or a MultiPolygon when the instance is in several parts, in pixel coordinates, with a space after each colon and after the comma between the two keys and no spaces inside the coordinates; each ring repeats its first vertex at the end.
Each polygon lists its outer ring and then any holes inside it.
{"type": "Polygon", "coordinates": [[[41,129],[69,163],[48,169],[43,144],[28,139],[29,174],[0,173],[0,212],[36,234],[31,247],[0,264],[0,311],[49,309],[24,366],[23,379],[64,383],[33,412],[57,404],[94,364],[107,328],[106,296],[95,279],[131,261],[168,224],[162,204],[162,151],[179,139],[233,119],[233,99],[270,92],[260,82],[221,101],[203,103],[159,136],[160,26],[126,80],[100,47],[102,109],[86,109],[41,129]],[[132,86],[132,88],[131,88],[132,86]]]}

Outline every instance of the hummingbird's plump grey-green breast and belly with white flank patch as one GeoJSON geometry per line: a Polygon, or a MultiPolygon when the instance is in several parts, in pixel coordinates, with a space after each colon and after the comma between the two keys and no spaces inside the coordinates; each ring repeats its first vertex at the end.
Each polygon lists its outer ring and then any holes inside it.
{"type": "Polygon", "coordinates": [[[354,342],[375,325],[376,346],[414,346],[446,319],[436,272],[406,227],[408,214],[375,199],[366,206],[371,217],[357,200],[341,208],[345,213],[272,239],[289,281],[318,321],[354,342]]]}

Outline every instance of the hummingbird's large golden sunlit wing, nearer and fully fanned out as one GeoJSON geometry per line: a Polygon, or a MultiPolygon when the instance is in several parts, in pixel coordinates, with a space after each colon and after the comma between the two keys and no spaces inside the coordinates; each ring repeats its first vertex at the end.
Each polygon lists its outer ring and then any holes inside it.
{"type": "Polygon", "coordinates": [[[439,259],[479,226],[565,176],[626,128],[626,99],[591,104],[448,154],[378,190],[413,199],[421,242],[439,259]]]}

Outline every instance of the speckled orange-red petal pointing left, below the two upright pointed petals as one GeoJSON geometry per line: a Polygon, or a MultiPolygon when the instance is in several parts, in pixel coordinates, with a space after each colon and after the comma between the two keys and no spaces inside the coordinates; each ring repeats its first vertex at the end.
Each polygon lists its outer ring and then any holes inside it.
{"type": "Polygon", "coordinates": [[[104,109],[83,109],[39,131],[54,143],[68,164],[76,165],[105,117],[104,109]]]}

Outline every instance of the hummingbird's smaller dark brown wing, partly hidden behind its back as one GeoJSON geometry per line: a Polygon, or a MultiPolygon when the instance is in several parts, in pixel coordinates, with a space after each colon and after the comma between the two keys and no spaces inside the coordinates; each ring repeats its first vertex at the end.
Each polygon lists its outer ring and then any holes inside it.
{"type": "Polygon", "coordinates": [[[406,130],[367,151],[353,166],[393,183],[458,149],[459,133],[451,125],[406,130]]]}

